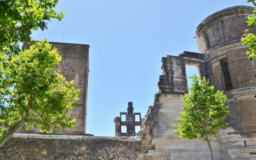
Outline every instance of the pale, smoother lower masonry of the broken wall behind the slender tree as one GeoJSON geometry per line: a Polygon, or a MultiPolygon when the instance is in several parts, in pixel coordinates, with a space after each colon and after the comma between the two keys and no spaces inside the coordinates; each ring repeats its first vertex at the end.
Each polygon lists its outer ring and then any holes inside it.
{"type": "MultiPolygon", "coordinates": [[[[154,125],[151,132],[153,139],[145,154],[146,160],[209,160],[210,152],[202,139],[186,140],[179,137],[173,130],[177,129],[172,124],[177,122],[176,118],[183,107],[181,98],[178,94],[157,94],[157,109],[154,113],[154,125]]],[[[143,144],[143,139],[142,139],[143,144]]],[[[219,139],[211,142],[213,156],[215,160],[221,160],[221,150],[219,139]]]]}

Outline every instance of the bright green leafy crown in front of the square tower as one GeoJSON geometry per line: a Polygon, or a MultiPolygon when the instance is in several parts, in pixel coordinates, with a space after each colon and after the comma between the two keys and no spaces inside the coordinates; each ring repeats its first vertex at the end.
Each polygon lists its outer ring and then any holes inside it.
{"type": "Polygon", "coordinates": [[[64,81],[55,70],[61,56],[46,38],[20,55],[2,59],[0,64],[5,67],[0,79],[4,84],[0,88],[0,140],[8,133],[6,126],[12,128],[27,113],[30,114],[27,125],[39,126],[41,132],[49,133],[52,129],[58,133],[59,126],[74,126],[76,119],[68,116],[67,111],[77,104],[80,90],[74,88],[73,81],[64,81]]]}

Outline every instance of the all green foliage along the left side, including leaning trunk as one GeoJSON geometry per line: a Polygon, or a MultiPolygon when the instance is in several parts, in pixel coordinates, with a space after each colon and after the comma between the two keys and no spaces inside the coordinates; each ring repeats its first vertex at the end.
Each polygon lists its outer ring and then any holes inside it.
{"type": "Polygon", "coordinates": [[[47,29],[58,0],[0,0],[0,147],[20,128],[58,133],[72,128],[67,115],[79,100],[74,82],[65,81],[55,66],[61,61],[45,38],[22,51],[19,43],[32,42],[31,31],[47,29]]]}

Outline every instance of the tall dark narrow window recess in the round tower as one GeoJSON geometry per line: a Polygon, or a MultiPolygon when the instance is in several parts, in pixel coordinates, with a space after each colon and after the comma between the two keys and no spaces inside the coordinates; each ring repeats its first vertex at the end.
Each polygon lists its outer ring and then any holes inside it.
{"type": "Polygon", "coordinates": [[[227,65],[227,58],[222,58],[220,60],[220,64],[221,64],[221,71],[222,71],[224,87],[225,87],[224,90],[225,91],[232,90],[233,86],[232,86],[230,72],[229,72],[228,65],[227,65]]]}

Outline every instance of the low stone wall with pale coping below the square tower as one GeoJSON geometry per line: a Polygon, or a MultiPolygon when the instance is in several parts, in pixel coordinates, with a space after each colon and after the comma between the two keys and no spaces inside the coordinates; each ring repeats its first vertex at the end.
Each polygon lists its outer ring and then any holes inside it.
{"type": "Polygon", "coordinates": [[[137,160],[138,137],[15,134],[0,148],[0,160],[137,160]]]}

